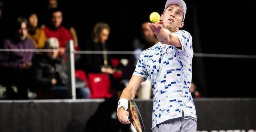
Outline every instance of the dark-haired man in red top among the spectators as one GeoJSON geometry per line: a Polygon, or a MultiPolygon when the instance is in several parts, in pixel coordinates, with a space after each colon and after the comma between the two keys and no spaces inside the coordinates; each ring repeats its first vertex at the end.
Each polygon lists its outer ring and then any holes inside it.
{"type": "Polygon", "coordinates": [[[50,24],[46,25],[44,28],[45,35],[47,38],[57,38],[60,44],[60,54],[64,54],[66,43],[69,40],[72,40],[72,36],[68,29],[61,26],[63,17],[60,9],[52,8],[50,10],[50,15],[50,24]]]}

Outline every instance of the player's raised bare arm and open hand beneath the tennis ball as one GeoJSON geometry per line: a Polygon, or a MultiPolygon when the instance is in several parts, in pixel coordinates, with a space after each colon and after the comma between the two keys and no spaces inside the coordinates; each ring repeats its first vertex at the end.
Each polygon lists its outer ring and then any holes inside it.
{"type": "Polygon", "coordinates": [[[148,23],[152,33],[156,34],[158,40],[162,44],[172,45],[174,47],[182,47],[180,40],[176,34],[170,30],[163,28],[164,22],[148,23]]]}

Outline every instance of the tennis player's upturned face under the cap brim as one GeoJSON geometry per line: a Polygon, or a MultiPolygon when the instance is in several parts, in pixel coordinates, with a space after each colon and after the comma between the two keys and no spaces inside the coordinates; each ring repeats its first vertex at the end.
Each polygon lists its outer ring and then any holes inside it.
{"type": "Polygon", "coordinates": [[[164,22],[164,28],[171,32],[178,31],[178,29],[182,28],[184,25],[184,22],[182,22],[183,14],[183,10],[180,6],[176,4],[170,5],[161,15],[161,20],[164,22]]]}

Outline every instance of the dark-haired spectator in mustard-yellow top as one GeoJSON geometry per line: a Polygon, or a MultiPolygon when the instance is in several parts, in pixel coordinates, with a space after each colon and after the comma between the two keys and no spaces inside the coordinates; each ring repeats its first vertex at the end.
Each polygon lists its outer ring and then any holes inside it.
{"type": "Polygon", "coordinates": [[[28,16],[28,37],[34,40],[36,48],[43,48],[46,41],[44,30],[38,28],[38,17],[36,13],[28,16]]]}

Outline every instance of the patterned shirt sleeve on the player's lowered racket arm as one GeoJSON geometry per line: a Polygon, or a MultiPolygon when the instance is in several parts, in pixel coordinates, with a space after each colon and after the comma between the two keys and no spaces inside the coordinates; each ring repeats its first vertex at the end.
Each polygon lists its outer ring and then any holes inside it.
{"type": "Polygon", "coordinates": [[[148,72],[146,70],[146,64],[145,64],[144,56],[146,56],[146,55],[144,55],[144,52],[142,52],[140,54],[140,58],[137,61],[136,68],[135,68],[135,70],[132,74],[132,75],[138,75],[138,76],[144,77],[143,82],[146,81],[147,78],[148,78],[148,72]]]}

